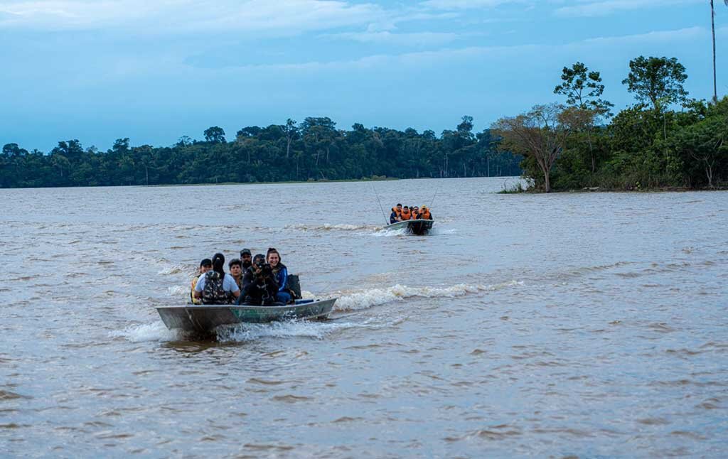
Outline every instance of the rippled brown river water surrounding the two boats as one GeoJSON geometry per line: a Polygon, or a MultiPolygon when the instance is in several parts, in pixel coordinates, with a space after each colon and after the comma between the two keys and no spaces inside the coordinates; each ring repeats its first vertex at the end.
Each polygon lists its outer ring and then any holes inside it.
{"type": "Polygon", "coordinates": [[[728,194],[504,181],[0,190],[0,456],[726,457],[728,194]],[[243,247],[331,320],[167,330],[243,247]]]}

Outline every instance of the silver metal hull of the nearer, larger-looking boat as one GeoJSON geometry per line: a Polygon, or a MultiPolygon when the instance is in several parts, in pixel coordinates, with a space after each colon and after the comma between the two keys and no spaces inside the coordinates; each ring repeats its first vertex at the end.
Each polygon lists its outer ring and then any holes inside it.
{"type": "Polygon", "coordinates": [[[170,330],[212,332],[221,325],[320,319],[328,316],[336,298],[286,306],[187,305],[157,308],[170,330]]]}

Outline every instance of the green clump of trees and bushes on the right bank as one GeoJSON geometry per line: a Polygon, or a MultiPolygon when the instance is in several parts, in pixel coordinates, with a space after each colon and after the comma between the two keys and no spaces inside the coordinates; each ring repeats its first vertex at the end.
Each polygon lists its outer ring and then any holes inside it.
{"type": "Polygon", "coordinates": [[[579,188],[715,188],[728,181],[728,97],[689,97],[675,57],[639,56],[622,81],[635,103],[614,115],[598,71],[564,67],[554,93],[491,126],[504,151],[521,153],[524,176],[542,191],[579,188]]]}

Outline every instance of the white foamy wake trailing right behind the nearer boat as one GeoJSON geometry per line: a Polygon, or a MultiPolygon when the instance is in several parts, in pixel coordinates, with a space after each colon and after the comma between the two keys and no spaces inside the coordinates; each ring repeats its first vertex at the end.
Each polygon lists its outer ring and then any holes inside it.
{"type": "Polygon", "coordinates": [[[451,287],[407,287],[406,285],[397,284],[384,289],[371,289],[348,294],[341,292],[342,295],[339,300],[336,300],[334,309],[336,311],[356,311],[392,303],[393,301],[402,301],[406,298],[455,298],[470,293],[494,292],[517,285],[523,285],[523,282],[511,281],[494,285],[456,284],[451,287]]]}

